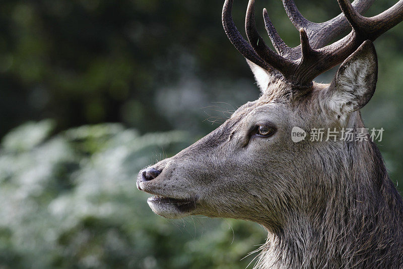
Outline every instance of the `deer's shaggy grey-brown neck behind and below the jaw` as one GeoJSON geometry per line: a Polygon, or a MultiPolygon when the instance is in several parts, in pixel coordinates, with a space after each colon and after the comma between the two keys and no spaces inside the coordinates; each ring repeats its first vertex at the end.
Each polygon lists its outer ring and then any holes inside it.
{"type": "MultiPolygon", "coordinates": [[[[358,113],[350,121],[350,127],[363,127],[358,113]]],[[[378,148],[371,141],[353,141],[345,149],[346,157],[340,158],[341,163],[333,163],[334,185],[326,196],[312,198],[306,193],[307,200],[302,199],[306,206],[291,210],[280,229],[267,227],[268,238],[261,247],[257,267],[403,264],[402,255],[396,254],[397,249],[403,250],[403,203],[378,148]]]]}

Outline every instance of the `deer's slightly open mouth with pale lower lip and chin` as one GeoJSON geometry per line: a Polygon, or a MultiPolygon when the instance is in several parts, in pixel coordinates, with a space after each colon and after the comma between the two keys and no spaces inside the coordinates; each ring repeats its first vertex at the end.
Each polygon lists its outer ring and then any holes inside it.
{"type": "Polygon", "coordinates": [[[170,219],[189,216],[196,208],[196,199],[178,199],[158,195],[148,198],[147,203],[154,213],[170,219]]]}

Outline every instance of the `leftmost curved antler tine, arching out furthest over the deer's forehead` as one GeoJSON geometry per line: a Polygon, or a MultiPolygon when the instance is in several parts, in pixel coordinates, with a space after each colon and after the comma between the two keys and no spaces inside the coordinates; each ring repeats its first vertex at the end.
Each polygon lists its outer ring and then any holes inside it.
{"type": "Polygon", "coordinates": [[[261,68],[277,73],[276,70],[273,70],[269,65],[267,65],[253,50],[250,44],[242,37],[239,33],[238,29],[235,26],[234,21],[232,20],[232,5],[234,0],[226,0],[223,7],[222,14],[222,22],[224,26],[224,31],[227,34],[231,43],[235,46],[235,48],[241,52],[243,57],[248,59],[249,61],[255,63],[261,68]]]}

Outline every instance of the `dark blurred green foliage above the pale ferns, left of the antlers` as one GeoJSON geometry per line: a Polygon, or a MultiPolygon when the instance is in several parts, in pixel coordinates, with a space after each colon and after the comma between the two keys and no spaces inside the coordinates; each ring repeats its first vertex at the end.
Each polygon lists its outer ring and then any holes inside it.
{"type": "Polygon", "coordinates": [[[2,1],[0,136],[43,118],[54,119],[57,130],[101,122],[142,132],[174,128],[176,115],[167,119],[152,109],[164,91],[189,87],[181,100],[188,109],[211,86],[197,89],[196,81],[228,79],[231,71],[250,78],[239,72],[244,60],[224,38],[220,6],[215,0],[2,1]]]}

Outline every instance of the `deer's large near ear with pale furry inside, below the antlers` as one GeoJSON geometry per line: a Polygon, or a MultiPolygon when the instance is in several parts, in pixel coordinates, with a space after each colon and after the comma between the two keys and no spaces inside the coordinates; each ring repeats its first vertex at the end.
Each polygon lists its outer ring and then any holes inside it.
{"type": "Polygon", "coordinates": [[[378,60],[372,41],[365,41],[340,66],[325,94],[328,109],[345,118],[361,109],[375,92],[378,60]]]}

